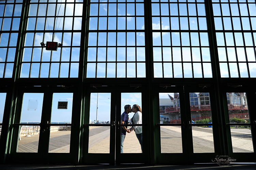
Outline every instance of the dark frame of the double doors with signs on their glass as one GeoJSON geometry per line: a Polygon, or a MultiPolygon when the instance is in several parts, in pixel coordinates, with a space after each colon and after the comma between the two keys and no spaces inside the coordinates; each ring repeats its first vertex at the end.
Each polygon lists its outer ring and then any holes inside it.
{"type": "Polygon", "coordinates": [[[17,102],[15,107],[13,131],[11,139],[10,162],[15,163],[78,163],[79,160],[79,134],[80,134],[80,113],[81,102],[79,100],[79,87],[76,86],[20,86],[17,93],[17,102]],[[48,153],[49,139],[50,139],[50,126],[56,125],[50,122],[53,93],[73,93],[73,106],[72,106],[72,126],[71,139],[70,139],[70,153],[48,153]],[[22,153],[16,152],[18,147],[18,135],[21,119],[21,110],[24,93],[44,93],[41,123],[38,124],[40,128],[39,145],[37,153],[22,153]],[[44,126],[46,131],[43,132],[44,126]],[[77,144],[78,143],[78,144],[77,144]],[[29,158],[29,159],[23,159],[29,158]]]}

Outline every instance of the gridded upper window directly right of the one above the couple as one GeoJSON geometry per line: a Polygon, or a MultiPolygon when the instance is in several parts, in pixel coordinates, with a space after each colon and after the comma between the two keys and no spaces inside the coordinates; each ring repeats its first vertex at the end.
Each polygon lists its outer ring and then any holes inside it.
{"type": "Polygon", "coordinates": [[[204,0],[152,0],[155,78],[212,78],[204,0]]]}

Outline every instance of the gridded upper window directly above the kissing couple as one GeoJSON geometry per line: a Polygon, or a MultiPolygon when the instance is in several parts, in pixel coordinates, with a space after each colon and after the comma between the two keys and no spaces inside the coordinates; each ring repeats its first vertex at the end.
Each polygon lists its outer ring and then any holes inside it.
{"type": "Polygon", "coordinates": [[[91,0],[87,78],[145,78],[144,0],[91,0]]]}

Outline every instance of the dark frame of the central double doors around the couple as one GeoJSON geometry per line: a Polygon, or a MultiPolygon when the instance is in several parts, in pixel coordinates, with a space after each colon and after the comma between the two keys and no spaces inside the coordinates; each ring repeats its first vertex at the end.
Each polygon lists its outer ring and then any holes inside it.
{"type": "MultiPolygon", "coordinates": [[[[141,102],[143,107],[143,112],[147,113],[147,94],[146,87],[143,88],[142,85],[130,85],[127,87],[118,87],[118,86],[100,86],[100,87],[88,87],[86,89],[85,95],[85,119],[84,119],[84,142],[83,142],[83,154],[82,154],[82,162],[85,164],[95,164],[95,163],[103,163],[103,164],[129,164],[129,163],[149,163],[150,162],[150,154],[149,154],[149,131],[146,131],[145,128],[142,128],[143,133],[143,153],[120,153],[120,138],[121,138],[121,125],[118,124],[118,121],[121,118],[121,93],[129,93],[129,92],[141,92],[141,102]],[[110,110],[110,124],[106,126],[112,126],[110,129],[110,153],[88,153],[89,146],[89,125],[90,126],[102,126],[103,124],[89,124],[90,119],[90,94],[91,93],[111,93],[111,109],[110,110]],[[131,157],[133,159],[131,159],[131,157]]],[[[149,115],[142,116],[142,122],[145,123],[146,127],[149,127],[149,115]]],[[[142,123],[144,124],[144,123],[142,123]]]]}

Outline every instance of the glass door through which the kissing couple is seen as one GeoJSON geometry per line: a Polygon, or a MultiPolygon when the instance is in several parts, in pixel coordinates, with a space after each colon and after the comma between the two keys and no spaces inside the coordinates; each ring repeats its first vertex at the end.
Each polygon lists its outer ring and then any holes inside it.
{"type": "Polygon", "coordinates": [[[146,88],[117,92],[116,163],[149,162],[149,124],[146,88]],[[131,159],[132,158],[132,159],[131,159]]]}

